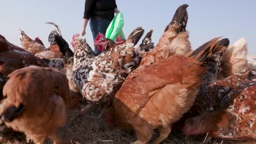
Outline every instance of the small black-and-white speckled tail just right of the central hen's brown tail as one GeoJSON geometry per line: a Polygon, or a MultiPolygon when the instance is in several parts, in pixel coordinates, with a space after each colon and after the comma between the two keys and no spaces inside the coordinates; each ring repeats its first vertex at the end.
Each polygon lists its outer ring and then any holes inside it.
{"type": "Polygon", "coordinates": [[[153,33],[153,29],[151,29],[144,37],[144,39],[142,40],[142,43],[139,45],[139,48],[141,51],[150,51],[152,49],[154,49],[154,43],[152,43],[152,33],[153,33]]]}

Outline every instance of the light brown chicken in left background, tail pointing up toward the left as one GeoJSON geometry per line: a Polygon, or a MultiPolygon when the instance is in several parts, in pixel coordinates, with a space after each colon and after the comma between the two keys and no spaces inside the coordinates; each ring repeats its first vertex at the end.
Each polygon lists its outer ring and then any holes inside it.
{"type": "Polygon", "coordinates": [[[62,58],[62,53],[56,53],[46,49],[43,45],[37,43],[28,37],[24,31],[21,31],[20,40],[23,49],[30,52],[32,55],[42,58],[42,59],[53,59],[53,58],[62,58]]]}

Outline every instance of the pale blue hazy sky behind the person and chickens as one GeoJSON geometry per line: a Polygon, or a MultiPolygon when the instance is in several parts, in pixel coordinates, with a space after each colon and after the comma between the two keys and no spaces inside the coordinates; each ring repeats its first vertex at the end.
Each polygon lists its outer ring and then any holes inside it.
{"type": "MultiPolygon", "coordinates": [[[[123,31],[127,37],[136,27],[145,29],[145,34],[154,29],[155,44],[171,21],[179,5],[189,4],[187,29],[193,49],[215,37],[229,38],[231,44],[245,37],[249,55],[256,54],[256,1],[232,0],[116,0],[123,13],[123,31]]],[[[21,46],[20,31],[34,39],[39,37],[46,47],[48,35],[54,29],[45,22],[60,26],[62,37],[70,44],[72,36],[82,29],[85,0],[2,1],[0,8],[0,34],[10,43],[21,46]]],[[[86,38],[93,45],[90,26],[86,27],[86,38]]]]}

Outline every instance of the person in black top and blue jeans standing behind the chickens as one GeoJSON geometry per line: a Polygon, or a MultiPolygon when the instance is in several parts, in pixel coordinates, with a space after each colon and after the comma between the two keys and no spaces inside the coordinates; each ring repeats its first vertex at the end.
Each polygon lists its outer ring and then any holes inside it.
{"type": "MultiPolygon", "coordinates": [[[[81,35],[85,35],[86,26],[90,19],[90,28],[92,37],[96,38],[98,32],[103,34],[109,26],[109,23],[114,18],[114,13],[119,13],[115,0],[85,0],[84,19],[81,35]]],[[[96,55],[100,55],[97,47],[94,52],[96,55]]]]}

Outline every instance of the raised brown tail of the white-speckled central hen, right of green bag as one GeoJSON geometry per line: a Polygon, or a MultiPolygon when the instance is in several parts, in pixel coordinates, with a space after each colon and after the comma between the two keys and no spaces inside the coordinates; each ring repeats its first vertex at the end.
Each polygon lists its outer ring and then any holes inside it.
{"type": "Polygon", "coordinates": [[[144,33],[144,29],[142,27],[137,27],[128,36],[125,44],[133,43],[134,45],[136,45],[138,43],[139,39],[141,39],[143,33],[144,33]]]}

